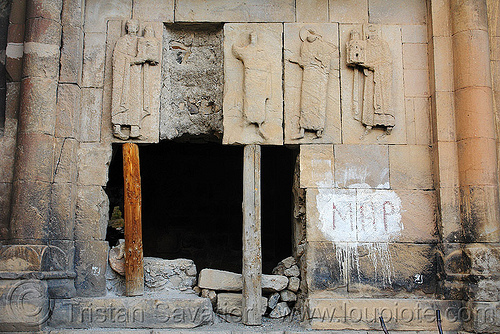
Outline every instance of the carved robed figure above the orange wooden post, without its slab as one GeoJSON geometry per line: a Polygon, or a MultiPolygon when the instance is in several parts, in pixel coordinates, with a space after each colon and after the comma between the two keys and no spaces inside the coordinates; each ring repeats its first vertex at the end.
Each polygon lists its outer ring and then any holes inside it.
{"type": "Polygon", "coordinates": [[[152,71],[160,62],[160,41],[151,26],[139,36],[139,22],[128,20],[113,51],[111,122],[119,139],[141,139],[141,122],[151,115],[152,71]]]}

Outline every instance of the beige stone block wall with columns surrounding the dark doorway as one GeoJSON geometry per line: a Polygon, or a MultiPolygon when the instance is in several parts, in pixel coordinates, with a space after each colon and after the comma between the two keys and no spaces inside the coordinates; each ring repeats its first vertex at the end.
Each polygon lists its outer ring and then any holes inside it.
{"type": "MultiPolygon", "coordinates": [[[[163,46],[148,64],[158,108],[132,141],[201,135],[298,147],[290,228],[306,292],[298,304],[320,312],[309,314],[313,328],[378,329],[376,317],[323,314],[397,313],[418,299],[426,310],[475,312],[444,319],[447,330],[497,332],[498,320],[478,312],[499,310],[498,14],[493,0],[13,1],[9,82],[0,84],[0,240],[64,259],[39,268],[64,272],[52,297],[73,296],[75,275],[78,296],[105,295],[105,187],[121,142],[113,52],[134,18],[163,46]],[[307,43],[318,48],[312,60],[307,43]],[[353,51],[370,43],[372,53],[353,51]],[[248,91],[259,91],[246,85],[250,45],[265,51],[265,120],[248,106],[248,91]],[[381,111],[369,119],[373,106],[381,111]]],[[[435,328],[393,317],[388,326],[435,328]]]]}

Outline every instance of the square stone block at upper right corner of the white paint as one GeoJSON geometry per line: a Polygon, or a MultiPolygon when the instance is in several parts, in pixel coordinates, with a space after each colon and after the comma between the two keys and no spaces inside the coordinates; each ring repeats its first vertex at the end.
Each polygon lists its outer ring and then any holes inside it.
{"type": "Polygon", "coordinates": [[[424,145],[389,147],[392,189],[432,189],[431,150],[424,145]]]}

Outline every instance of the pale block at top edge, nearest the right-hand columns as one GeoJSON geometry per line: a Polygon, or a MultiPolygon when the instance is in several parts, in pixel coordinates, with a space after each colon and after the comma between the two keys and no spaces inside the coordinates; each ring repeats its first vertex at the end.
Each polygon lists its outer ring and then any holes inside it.
{"type": "Polygon", "coordinates": [[[423,2],[411,0],[397,0],[391,3],[370,0],[369,16],[370,23],[425,24],[427,7],[423,2]]]}

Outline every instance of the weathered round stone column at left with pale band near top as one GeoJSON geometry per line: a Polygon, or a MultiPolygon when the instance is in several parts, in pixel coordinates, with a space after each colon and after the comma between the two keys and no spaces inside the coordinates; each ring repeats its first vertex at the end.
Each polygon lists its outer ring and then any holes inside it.
{"type": "Polygon", "coordinates": [[[62,1],[27,2],[11,239],[46,243],[56,170],[55,125],[62,1]]]}

